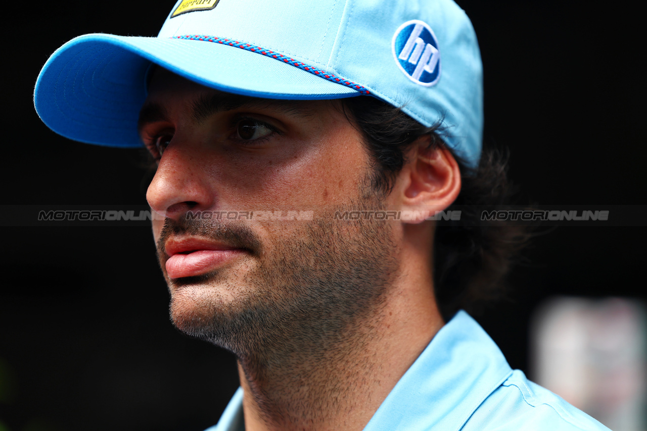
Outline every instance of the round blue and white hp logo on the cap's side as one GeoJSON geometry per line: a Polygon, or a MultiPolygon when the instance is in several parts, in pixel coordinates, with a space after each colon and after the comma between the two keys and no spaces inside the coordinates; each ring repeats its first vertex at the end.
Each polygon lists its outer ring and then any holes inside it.
{"type": "Polygon", "coordinates": [[[393,57],[411,81],[429,87],[441,77],[441,53],[432,29],[414,19],[400,25],[393,35],[393,57]]]}

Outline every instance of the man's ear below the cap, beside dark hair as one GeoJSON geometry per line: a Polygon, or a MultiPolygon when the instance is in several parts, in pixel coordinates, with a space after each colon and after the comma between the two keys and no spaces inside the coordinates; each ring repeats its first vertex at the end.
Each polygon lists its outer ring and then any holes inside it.
{"type": "Polygon", "coordinates": [[[430,143],[430,136],[417,140],[400,172],[401,207],[410,211],[409,223],[420,223],[435,211],[446,209],[461,191],[456,159],[444,146],[430,148],[430,143]]]}

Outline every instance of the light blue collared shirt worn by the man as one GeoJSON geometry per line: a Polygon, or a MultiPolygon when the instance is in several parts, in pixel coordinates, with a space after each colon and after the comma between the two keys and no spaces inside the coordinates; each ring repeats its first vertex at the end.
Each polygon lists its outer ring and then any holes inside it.
{"type": "MultiPolygon", "coordinates": [[[[244,429],[239,388],[217,425],[244,429]]],[[[483,328],[459,311],[433,337],[364,431],[607,430],[593,417],[512,370],[483,328]]]]}

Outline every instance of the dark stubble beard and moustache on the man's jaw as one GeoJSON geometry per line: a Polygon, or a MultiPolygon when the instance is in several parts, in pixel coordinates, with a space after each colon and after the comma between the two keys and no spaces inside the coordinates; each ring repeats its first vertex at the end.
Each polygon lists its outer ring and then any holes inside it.
{"type": "Polygon", "coordinates": [[[244,247],[258,262],[236,286],[225,271],[168,280],[171,292],[217,285],[234,292],[226,298],[218,290],[208,299],[201,295],[191,308],[171,294],[171,320],[184,333],[230,350],[254,369],[302,355],[330,360],[331,352],[348,353],[342,346],[361,348],[397,275],[397,247],[389,222],[334,220],[333,215],[381,208],[377,196],[364,195],[311,222],[287,222],[298,224],[291,239],[272,247],[263,247],[245,225],[178,226],[169,220],[160,244],[173,232],[203,235],[244,247]]]}

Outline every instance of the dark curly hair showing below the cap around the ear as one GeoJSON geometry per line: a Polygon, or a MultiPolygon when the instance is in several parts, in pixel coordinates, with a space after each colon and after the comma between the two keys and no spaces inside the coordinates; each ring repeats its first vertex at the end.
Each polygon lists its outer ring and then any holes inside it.
{"type": "MultiPolygon", "coordinates": [[[[342,107],[377,162],[371,178],[376,193],[391,191],[415,140],[428,135],[430,147],[439,147],[447,136],[440,122],[425,127],[401,109],[369,96],[344,99],[342,107]]],[[[448,210],[460,209],[461,220],[437,222],[433,251],[435,296],[446,321],[460,309],[480,313],[487,302],[505,295],[505,275],[532,233],[529,226],[480,220],[481,211],[512,203],[515,189],[507,177],[505,153],[484,149],[476,169],[456,159],[462,187],[448,210]]]]}

